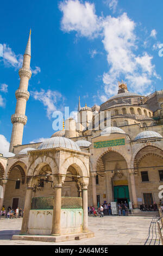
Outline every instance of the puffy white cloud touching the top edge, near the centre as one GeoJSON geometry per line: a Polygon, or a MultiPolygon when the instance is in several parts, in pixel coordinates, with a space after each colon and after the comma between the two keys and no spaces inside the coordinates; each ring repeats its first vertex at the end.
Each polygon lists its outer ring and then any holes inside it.
{"type": "Polygon", "coordinates": [[[95,14],[95,5],[78,0],[66,0],[59,4],[63,13],[61,29],[65,32],[77,31],[81,36],[97,36],[101,29],[100,20],[95,14]]]}

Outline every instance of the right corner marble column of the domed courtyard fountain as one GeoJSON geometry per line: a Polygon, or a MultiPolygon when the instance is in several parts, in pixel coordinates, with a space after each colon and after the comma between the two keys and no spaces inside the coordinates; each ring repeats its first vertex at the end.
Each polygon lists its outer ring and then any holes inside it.
{"type": "Polygon", "coordinates": [[[82,205],[83,205],[83,232],[88,232],[87,230],[87,184],[82,184],[82,205]]]}

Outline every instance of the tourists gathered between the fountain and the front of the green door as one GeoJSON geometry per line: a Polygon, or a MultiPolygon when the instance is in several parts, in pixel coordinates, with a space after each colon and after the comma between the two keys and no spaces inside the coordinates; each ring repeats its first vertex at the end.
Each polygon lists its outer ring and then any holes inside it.
{"type": "MultiPolygon", "coordinates": [[[[121,216],[125,216],[126,215],[126,211],[128,210],[128,204],[125,201],[124,203],[118,203],[118,215],[121,216]]],[[[88,214],[89,215],[93,215],[93,216],[100,216],[103,217],[104,215],[112,215],[112,211],[111,211],[111,204],[100,204],[100,206],[98,207],[97,211],[95,210],[94,206],[89,206],[88,208],[88,214]]]]}

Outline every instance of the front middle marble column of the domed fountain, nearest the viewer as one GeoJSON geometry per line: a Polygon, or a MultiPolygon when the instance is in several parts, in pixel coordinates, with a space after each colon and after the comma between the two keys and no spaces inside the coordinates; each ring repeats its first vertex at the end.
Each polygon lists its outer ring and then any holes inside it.
{"type": "Polygon", "coordinates": [[[60,217],[61,217],[61,192],[64,178],[61,175],[54,177],[54,203],[53,203],[53,221],[51,235],[60,235],[60,217]]]}

